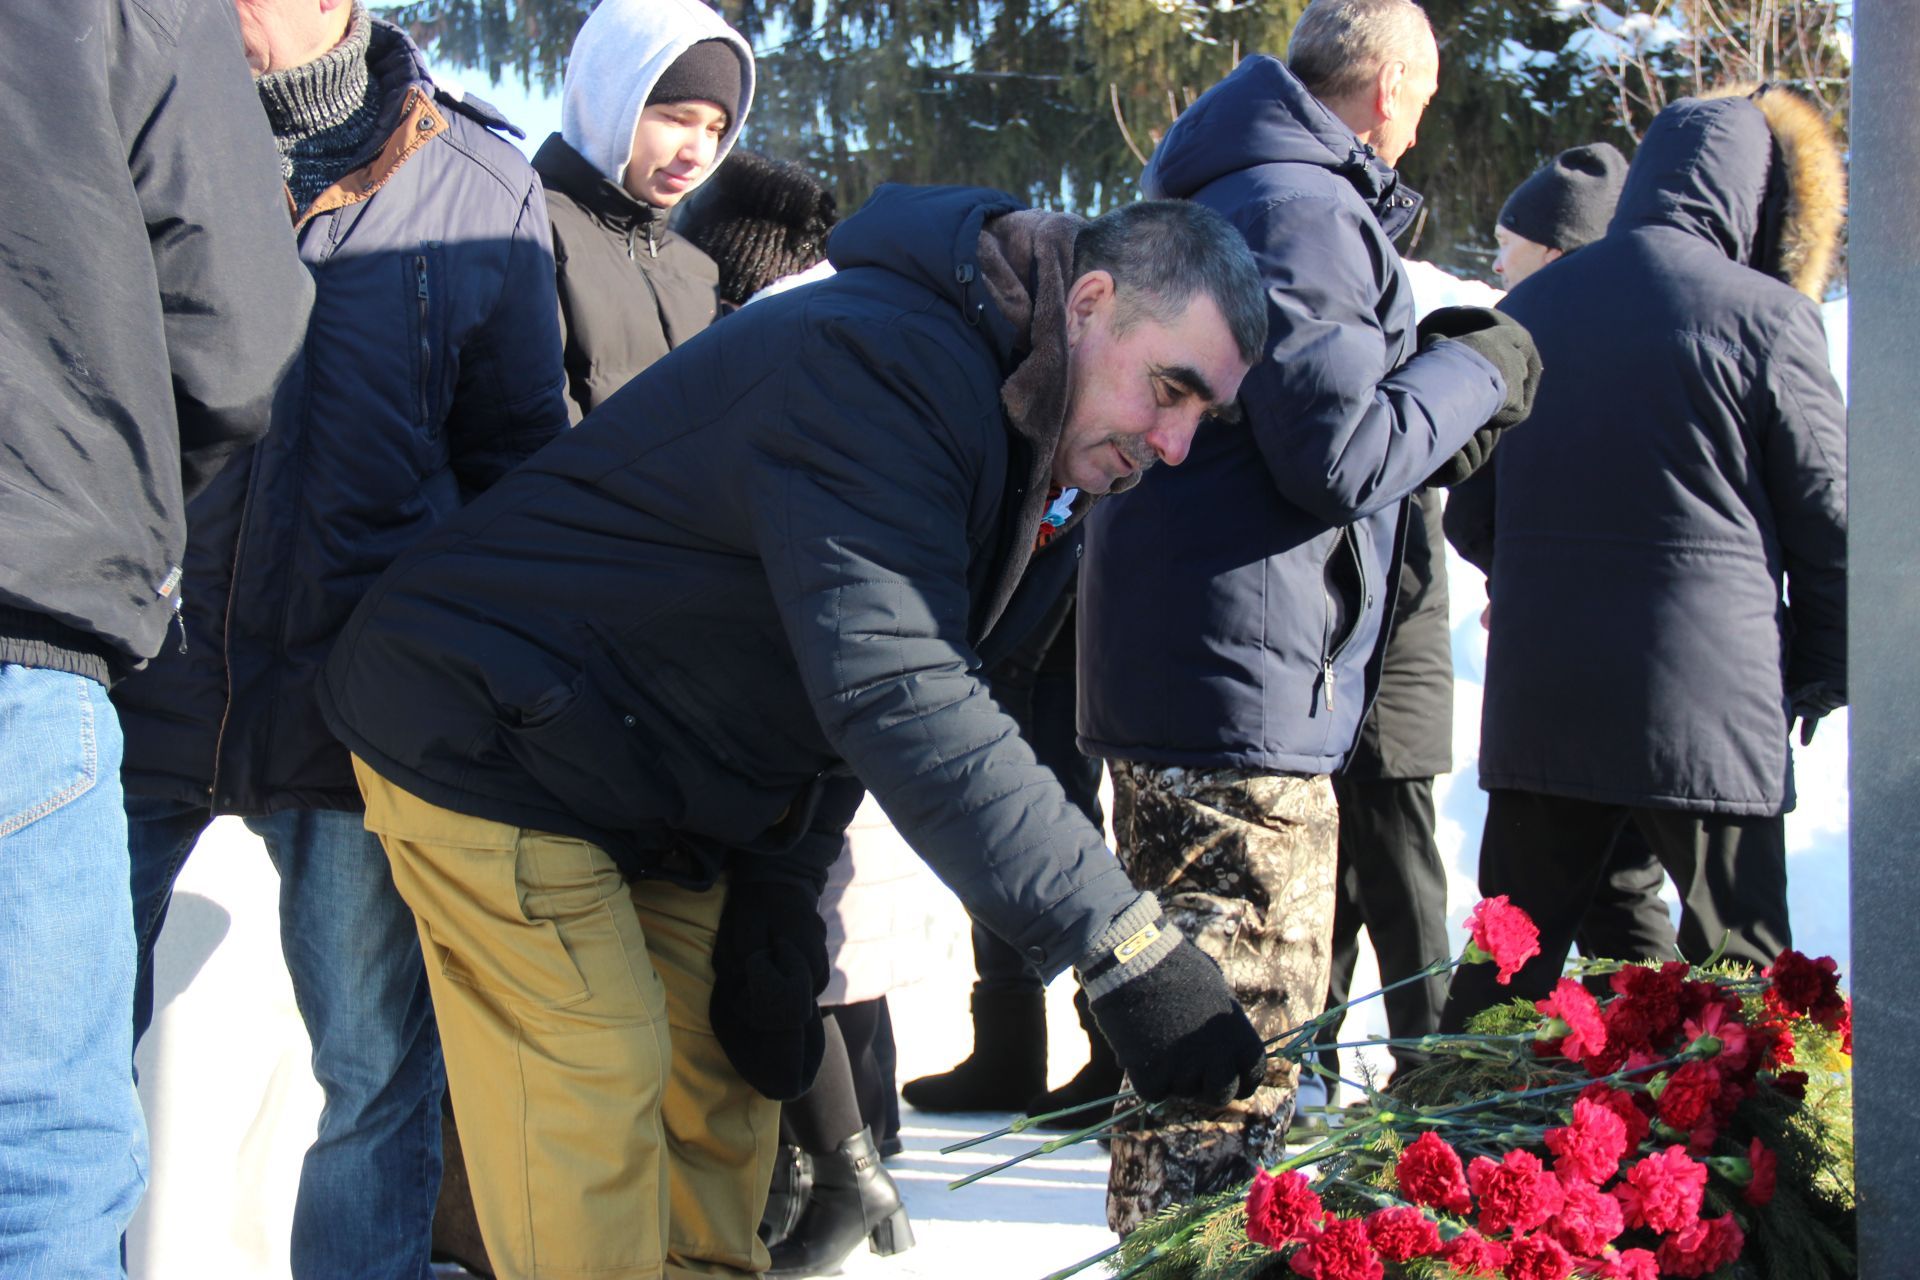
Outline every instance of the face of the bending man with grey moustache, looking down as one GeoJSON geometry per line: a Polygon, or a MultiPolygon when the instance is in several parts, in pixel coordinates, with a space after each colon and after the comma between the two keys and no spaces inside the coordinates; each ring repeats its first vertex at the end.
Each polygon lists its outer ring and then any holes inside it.
{"type": "Polygon", "coordinates": [[[1106,493],[1154,462],[1179,466],[1200,418],[1229,409],[1246,363],[1212,297],[1169,324],[1137,317],[1116,332],[1114,278],[1091,271],[1068,292],[1068,415],[1054,484],[1106,493]]]}

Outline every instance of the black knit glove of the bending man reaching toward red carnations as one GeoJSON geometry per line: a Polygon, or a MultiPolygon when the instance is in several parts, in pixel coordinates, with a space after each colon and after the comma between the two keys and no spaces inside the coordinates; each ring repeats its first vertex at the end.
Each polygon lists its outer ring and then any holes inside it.
{"type": "Polygon", "coordinates": [[[1267,1079],[1267,1050],[1219,965],[1167,923],[1152,894],[1108,925],[1077,967],[1100,1032],[1146,1102],[1217,1107],[1267,1079]]]}

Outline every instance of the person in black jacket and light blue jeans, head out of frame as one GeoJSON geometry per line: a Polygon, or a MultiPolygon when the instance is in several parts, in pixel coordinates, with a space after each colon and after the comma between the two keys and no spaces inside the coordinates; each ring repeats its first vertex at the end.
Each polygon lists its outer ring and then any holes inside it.
{"type": "Polygon", "coordinates": [[[108,685],[313,290],[230,4],[0,13],[0,1276],[108,1280],[146,1182],[108,685]]]}

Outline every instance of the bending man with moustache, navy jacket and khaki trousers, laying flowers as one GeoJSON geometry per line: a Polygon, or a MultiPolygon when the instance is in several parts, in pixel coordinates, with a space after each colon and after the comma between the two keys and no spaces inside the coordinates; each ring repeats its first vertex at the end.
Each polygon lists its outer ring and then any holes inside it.
{"type": "Polygon", "coordinates": [[[1043,520],[1233,403],[1246,246],[1188,203],[889,186],[829,259],[403,557],[323,677],[503,1274],[764,1270],[768,1098],[818,1065],[812,908],[862,785],[977,919],[1079,967],[1144,1096],[1261,1075],[977,677],[1071,568],[1043,520]]]}

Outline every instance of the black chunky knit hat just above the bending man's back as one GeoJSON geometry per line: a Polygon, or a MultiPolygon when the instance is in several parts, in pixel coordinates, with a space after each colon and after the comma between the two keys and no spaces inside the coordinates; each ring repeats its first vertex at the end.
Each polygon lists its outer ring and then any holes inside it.
{"type": "Polygon", "coordinates": [[[783,159],[735,150],[680,219],[680,234],[720,267],[720,297],[745,303],[828,253],[833,192],[783,159]]]}

